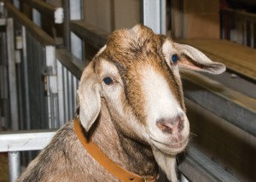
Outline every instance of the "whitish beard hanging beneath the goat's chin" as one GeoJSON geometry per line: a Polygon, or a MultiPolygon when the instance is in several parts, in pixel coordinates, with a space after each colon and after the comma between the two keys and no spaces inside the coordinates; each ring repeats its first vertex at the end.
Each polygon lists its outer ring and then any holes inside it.
{"type": "Polygon", "coordinates": [[[172,156],[160,151],[157,148],[153,148],[155,161],[158,163],[160,168],[166,173],[168,180],[177,182],[176,174],[176,156],[172,156]]]}

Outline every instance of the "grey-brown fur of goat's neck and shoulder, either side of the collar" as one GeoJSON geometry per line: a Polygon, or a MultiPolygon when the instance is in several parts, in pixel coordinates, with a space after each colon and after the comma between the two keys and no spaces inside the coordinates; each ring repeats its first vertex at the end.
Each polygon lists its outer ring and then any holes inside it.
{"type": "MultiPolygon", "coordinates": [[[[150,149],[119,138],[108,108],[102,111],[91,138],[113,162],[141,175],[157,175],[158,167],[150,149]],[[139,161],[139,162],[138,162],[139,161]]],[[[30,163],[17,181],[119,181],[84,150],[73,131],[73,122],[61,128],[50,144],[30,163]]]]}

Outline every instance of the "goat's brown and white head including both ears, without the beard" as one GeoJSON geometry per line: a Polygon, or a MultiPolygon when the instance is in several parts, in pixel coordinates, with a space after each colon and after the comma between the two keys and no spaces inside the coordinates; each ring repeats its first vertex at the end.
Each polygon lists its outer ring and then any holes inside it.
{"type": "Polygon", "coordinates": [[[101,97],[116,128],[131,139],[176,155],[189,138],[178,67],[221,73],[199,50],[155,35],[146,26],[114,31],[81,78],[80,120],[89,130],[101,97]]]}

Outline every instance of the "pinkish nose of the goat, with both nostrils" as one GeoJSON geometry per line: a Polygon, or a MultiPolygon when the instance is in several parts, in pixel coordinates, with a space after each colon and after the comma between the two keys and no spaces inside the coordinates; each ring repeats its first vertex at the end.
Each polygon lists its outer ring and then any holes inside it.
{"type": "Polygon", "coordinates": [[[156,122],[156,125],[166,134],[177,134],[184,128],[184,119],[182,116],[160,118],[160,120],[156,122]]]}

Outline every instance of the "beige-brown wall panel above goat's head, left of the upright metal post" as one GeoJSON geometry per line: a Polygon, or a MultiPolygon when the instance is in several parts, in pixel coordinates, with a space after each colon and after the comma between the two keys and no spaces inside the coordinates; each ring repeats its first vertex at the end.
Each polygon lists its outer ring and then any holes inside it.
{"type": "Polygon", "coordinates": [[[111,32],[140,22],[140,0],[84,0],[84,21],[111,32]]]}

